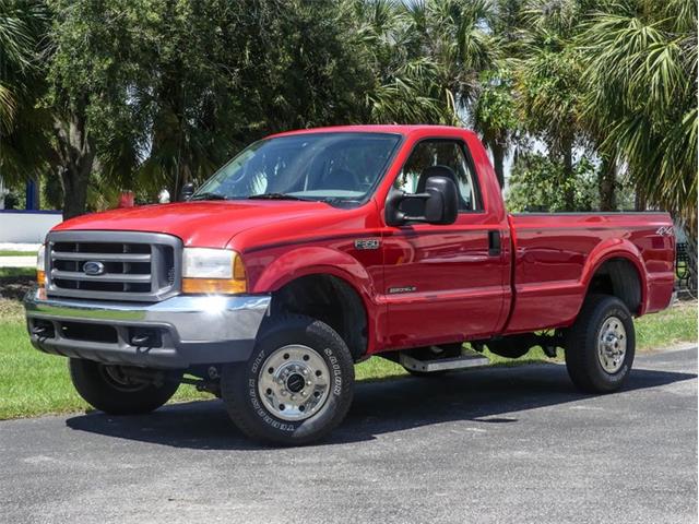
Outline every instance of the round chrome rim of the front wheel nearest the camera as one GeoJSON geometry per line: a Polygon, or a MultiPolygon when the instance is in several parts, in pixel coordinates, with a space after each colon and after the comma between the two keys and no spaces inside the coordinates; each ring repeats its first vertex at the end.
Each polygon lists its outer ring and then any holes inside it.
{"type": "Polygon", "coordinates": [[[264,361],[258,380],[264,407],[282,420],[306,420],[322,413],[330,393],[323,357],[300,344],[280,347],[264,361]]]}

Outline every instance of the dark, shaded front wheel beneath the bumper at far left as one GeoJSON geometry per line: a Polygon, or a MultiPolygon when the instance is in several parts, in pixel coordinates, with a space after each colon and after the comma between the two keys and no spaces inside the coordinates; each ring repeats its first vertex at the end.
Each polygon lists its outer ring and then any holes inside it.
{"type": "Polygon", "coordinates": [[[130,368],[80,358],[71,358],[68,366],[80,396],[110,415],[138,415],[157,409],[171,398],[182,377],[179,371],[162,371],[153,373],[154,380],[134,379],[130,368]]]}

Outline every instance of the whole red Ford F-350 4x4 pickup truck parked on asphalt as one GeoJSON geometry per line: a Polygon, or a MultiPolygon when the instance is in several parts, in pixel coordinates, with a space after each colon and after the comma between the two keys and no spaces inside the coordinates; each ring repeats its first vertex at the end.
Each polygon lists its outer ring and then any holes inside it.
{"type": "Polygon", "coordinates": [[[150,412],[193,383],[249,437],[300,444],[344,418],[355,362],[431,376],[484,347],[564,348],[578,388],[609,392],[632,317],[673,293],[666,213],[508,214],[463,129],[276,134],[192,192],[67,221],[39,253],[32,343],[70,357],[98,409],[150,412]]]}

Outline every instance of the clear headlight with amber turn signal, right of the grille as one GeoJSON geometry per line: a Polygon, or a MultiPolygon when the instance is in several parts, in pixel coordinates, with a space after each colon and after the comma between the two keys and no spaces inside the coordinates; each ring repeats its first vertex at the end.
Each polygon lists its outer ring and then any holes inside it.
{"type": "Polygon", "coordinates": [[[234,294],[247,290],[245,266],[228,249],[185,248],[182,291],[234,294]]]}

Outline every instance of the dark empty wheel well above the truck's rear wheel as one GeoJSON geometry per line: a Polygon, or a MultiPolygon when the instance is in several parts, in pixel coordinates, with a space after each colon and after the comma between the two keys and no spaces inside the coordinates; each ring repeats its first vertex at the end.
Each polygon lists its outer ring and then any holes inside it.
{"type": "Polygon", "coordinates": [[[592,276],[588,295],[603,293],[614,295],[629,311],[636,313],[641,307],[641,278],[636,266],[626,259],[604,262],[592,276]]]}

